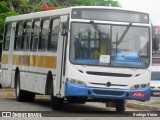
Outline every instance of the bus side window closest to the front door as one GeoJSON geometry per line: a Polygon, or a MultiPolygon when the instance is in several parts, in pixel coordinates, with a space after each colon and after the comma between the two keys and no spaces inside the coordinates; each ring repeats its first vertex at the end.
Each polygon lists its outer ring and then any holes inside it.
{"type": "Polygon", "coordinates": [[[57,52],[58,46],[58,36],[59,36],[59,29],[60,29],[60,19],[53,19],[51,21],[51,32],[49,34],[49,42],[48,42],[48,50],[57,52]]]}

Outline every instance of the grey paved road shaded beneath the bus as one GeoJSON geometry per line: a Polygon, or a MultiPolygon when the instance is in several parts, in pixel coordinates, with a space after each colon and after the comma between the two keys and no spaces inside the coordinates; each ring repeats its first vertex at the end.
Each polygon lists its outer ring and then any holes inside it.
{"type": "MultiPolygon", "coordinates": [[[[14,97],[0,98],[0,111],[52,111],[50,99],[38,97],[35,102],[17,102],[14,97]]],[[[106,108],[104,103],[69,104],[64,103],[60,111],[52,111],[55,116],[111,116],[108,112],[115,111],[114,108],[106,108]]],[[[127,108],[127,111],[137,109],[127,108]]]]}

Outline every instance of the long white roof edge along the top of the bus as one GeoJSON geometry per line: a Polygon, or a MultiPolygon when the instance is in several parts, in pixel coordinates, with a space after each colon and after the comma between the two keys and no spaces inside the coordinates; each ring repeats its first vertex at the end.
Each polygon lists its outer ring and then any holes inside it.
{"type": "MultiPolygon", "coordinates": [[[[21,21],[21,20],[27,20],[27,19],[35,19],[35,18],[43,18],[43,17],[51,17],[51,16],[58,16],[58,15],[66,15],[71,12],[73,8],[79,8],[79,9],[114,9],[114,10],[124,10],[124,11],[133,11],[133,12],[139,12],[135,10],[126,10],[123,8],[118,8],[118,7],[106,7],[106,6],[75,6],[75,7],[68,7],[68,8],[62,8],[62,9],[56,9],[56,10],[49,10],[49,11],[41,11],[41,12],[34,12],[34,13],[29,13],[29,14],[22,14],[22,15],[17,15],[17,16],[11,16],[7,17],[5,22],[13,22],[13,21],[21,21]]],[[[145,13],[145,12],[140,12],[140,13],[145,13]]],[[[148,14],[148,13],[146,13],[148,14]]]]}

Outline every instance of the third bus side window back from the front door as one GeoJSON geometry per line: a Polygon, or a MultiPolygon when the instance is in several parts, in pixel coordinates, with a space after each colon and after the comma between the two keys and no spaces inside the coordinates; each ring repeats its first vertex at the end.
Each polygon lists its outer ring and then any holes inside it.
{"type": "Polygon", "coordinates": [[[34,21],[33,22],[33,32],[31,37],[31,44],[30,44],[30,50],[36,51],[38,47],[38,40],[39,40],[39,34],[40,34],[40,21],[34,21]]]}

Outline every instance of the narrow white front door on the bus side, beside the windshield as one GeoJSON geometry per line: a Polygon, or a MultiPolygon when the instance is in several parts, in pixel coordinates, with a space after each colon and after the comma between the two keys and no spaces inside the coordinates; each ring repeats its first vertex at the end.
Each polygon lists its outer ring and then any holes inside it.
{"type": "Polygon", "coordinates": [[[54,95],[61,96],[62,80],[65,76],[65,59],[66,59],[66,43],[67,43],[67,28],[68,28],[68,15],[60,17],[60,31],[58,38],[57,49],[57,67],[56,67],[56,80],[54,81],[54,95]]]}

